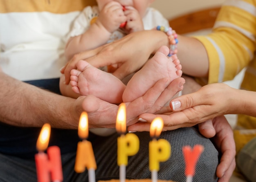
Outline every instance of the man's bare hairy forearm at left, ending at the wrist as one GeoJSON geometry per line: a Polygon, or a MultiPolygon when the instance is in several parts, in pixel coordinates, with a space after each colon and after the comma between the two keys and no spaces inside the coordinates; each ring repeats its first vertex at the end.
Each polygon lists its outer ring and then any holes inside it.
{"type": "Polygon", "coordinates": [[[18,81],[0,72],[0,121],[22,127],[75,129],[82,107],[74,109],[75,99],[54,94],[18,81]]]}

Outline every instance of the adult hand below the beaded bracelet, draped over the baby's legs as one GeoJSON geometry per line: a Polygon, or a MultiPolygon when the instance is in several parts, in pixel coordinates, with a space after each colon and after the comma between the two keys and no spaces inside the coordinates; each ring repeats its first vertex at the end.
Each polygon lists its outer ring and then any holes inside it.
{"type": "Polygon", "coordinates": [[[130,33],[110,44],[74,55],[61,72],[65,74],[65,83],[68,84],[70,82],[70,71],[76,69],[76,63],[82,59],[97,68],[118,64],[118,68],[113,72],[113,75],[123,79],[140,69],[148,60],[150,54],[155,53],[162,45],[168,46],[168,37],[162,31],[149,30],[130,33]]]}

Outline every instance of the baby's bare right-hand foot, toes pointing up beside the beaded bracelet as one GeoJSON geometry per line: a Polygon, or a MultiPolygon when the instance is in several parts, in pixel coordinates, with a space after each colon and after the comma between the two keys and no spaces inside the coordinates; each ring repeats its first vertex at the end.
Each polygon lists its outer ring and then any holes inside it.
{"type": "Polygon", "coordinates": [[[160,47],[152,59],[135,73],[124,90],[124,102],[131,102],[143,96],[159,79],[168,77],[171,83],[177,77],[181,77],[180,60],[176,55],[168,58],[168,53],[168,47],[160,47]]]}

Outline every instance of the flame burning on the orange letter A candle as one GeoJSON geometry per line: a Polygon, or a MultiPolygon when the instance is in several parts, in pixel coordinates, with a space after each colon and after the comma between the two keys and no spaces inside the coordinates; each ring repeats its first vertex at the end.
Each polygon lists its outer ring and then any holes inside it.
{"type": "Polygon", "coordinates": [[[88,134],[88,114],[87,112],[82,112],[78,125],[78,136],[80,138],[86,139],[88,137],[88,134]]]}

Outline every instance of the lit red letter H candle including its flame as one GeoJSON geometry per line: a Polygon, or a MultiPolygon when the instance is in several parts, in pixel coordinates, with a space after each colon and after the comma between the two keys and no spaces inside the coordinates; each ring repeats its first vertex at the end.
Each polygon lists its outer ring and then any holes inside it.
{"type": "Polygon", "coordinates": [[[36,148],[39,151],[35,155],[38,182],[63,181],[61,150],[57,146],[47,149],[50,133],[51,126],[48,123],[44,124],[36,143],[36,148]],[[46,149],[47,154],[44,153],[46,149]]]}

